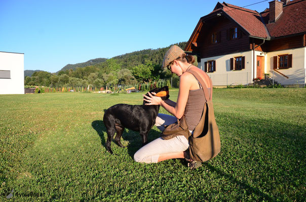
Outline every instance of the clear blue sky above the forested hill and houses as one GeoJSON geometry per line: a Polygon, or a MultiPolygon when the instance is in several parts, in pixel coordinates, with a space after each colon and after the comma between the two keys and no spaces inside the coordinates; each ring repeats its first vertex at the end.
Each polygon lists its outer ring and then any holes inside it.
{"type": "MultiPolygon", "coordinates": [[[[261,1],[225,2],[244,7],[261,1]]],[[[187,41],[217,2],[0,0],[0,51],[24,53],[24,70],[53,73],[67,64],[187,41]]],[[[269,1],[246,8],[267,7],[269,1]]]]}

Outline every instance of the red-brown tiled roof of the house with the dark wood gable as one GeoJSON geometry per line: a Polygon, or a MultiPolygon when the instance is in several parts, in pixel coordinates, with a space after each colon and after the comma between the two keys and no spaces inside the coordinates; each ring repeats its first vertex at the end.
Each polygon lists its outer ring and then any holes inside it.
{"type": "Polygon", "coordinates": [[[304,0],[288,2],[283,6],[283,13],[274,23],[269,23],[269,13],[269,9],[258,13],[225,2],[222,4],[218,2],[211,13],[200,19],[185,46],[185,51],[190,51],[191,44],[196,42],[203,20],[209,20],[218,15],[234,21],[247,35],[255,38],[270,39],[270,37],[287,36],[306,31],[306,1],[304,0]]]}

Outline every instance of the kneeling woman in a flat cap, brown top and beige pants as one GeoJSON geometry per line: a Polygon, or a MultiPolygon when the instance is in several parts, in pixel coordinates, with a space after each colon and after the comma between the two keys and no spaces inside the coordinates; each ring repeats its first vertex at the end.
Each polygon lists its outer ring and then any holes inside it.
{"type": "MultiPolygon", "coordinates": [[[[163,131],[164,126],[175,123],[183,115],[190,133],[198,125],[205,104],[205,96],[200,82],[188,71],[196,72],[204,81],[209,94],[212,88],[209,76],[198,67],[194,66],[195,58],[186,55],[184,51],[173,45],[165,54],[163,68],[168,68],[172,73],[179,76],[179,92],[177,102],[170,99],[163,101],[158,96],[144,95],[144,100],[149,102],[146,105],[160,105],[165,108],[171,115],[159,114],[156,118],[156,126],[163,131]]],[[[185,158],[189,159],[188,137],[178,135],[171,139],[155,139],[141,147],[134,155],[136,162],[158,163],[167,159],[185,158]]],[[[189,160],[192,161],[192,160],[189,160]]],[[[201,164],[200,164],[201,165],[201,164]]]]}

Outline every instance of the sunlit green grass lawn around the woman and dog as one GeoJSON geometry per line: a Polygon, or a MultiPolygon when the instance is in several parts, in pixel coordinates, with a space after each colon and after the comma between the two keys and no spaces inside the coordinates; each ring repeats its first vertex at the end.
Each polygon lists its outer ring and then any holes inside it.
{"type": "MultiPolygon", "coordinates": [[[[177,90],[170,90],[176,100],[177,90]]],[[[0,95],[0,201],[305,201],[306,89],[214,89],[221,152],[140,164],[138,132],[105,149],[104,110],[142,93],[0,95]]],[[[166,113],[164,109],[161,113],[166,113]]],[[[158,138],[153,127],[149,141],[158,138]]]]}

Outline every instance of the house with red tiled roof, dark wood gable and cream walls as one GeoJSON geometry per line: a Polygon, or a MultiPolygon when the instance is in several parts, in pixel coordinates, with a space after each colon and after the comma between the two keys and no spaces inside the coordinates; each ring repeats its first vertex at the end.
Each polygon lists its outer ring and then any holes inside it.
{"type": "Polygon", "coordinates": [[[185,51],[214,86],[247,85],[270,74],[282,85],[305,84],[306,1],[271,1],[263,12],[225,2],[200,18],[185,51]]]}

